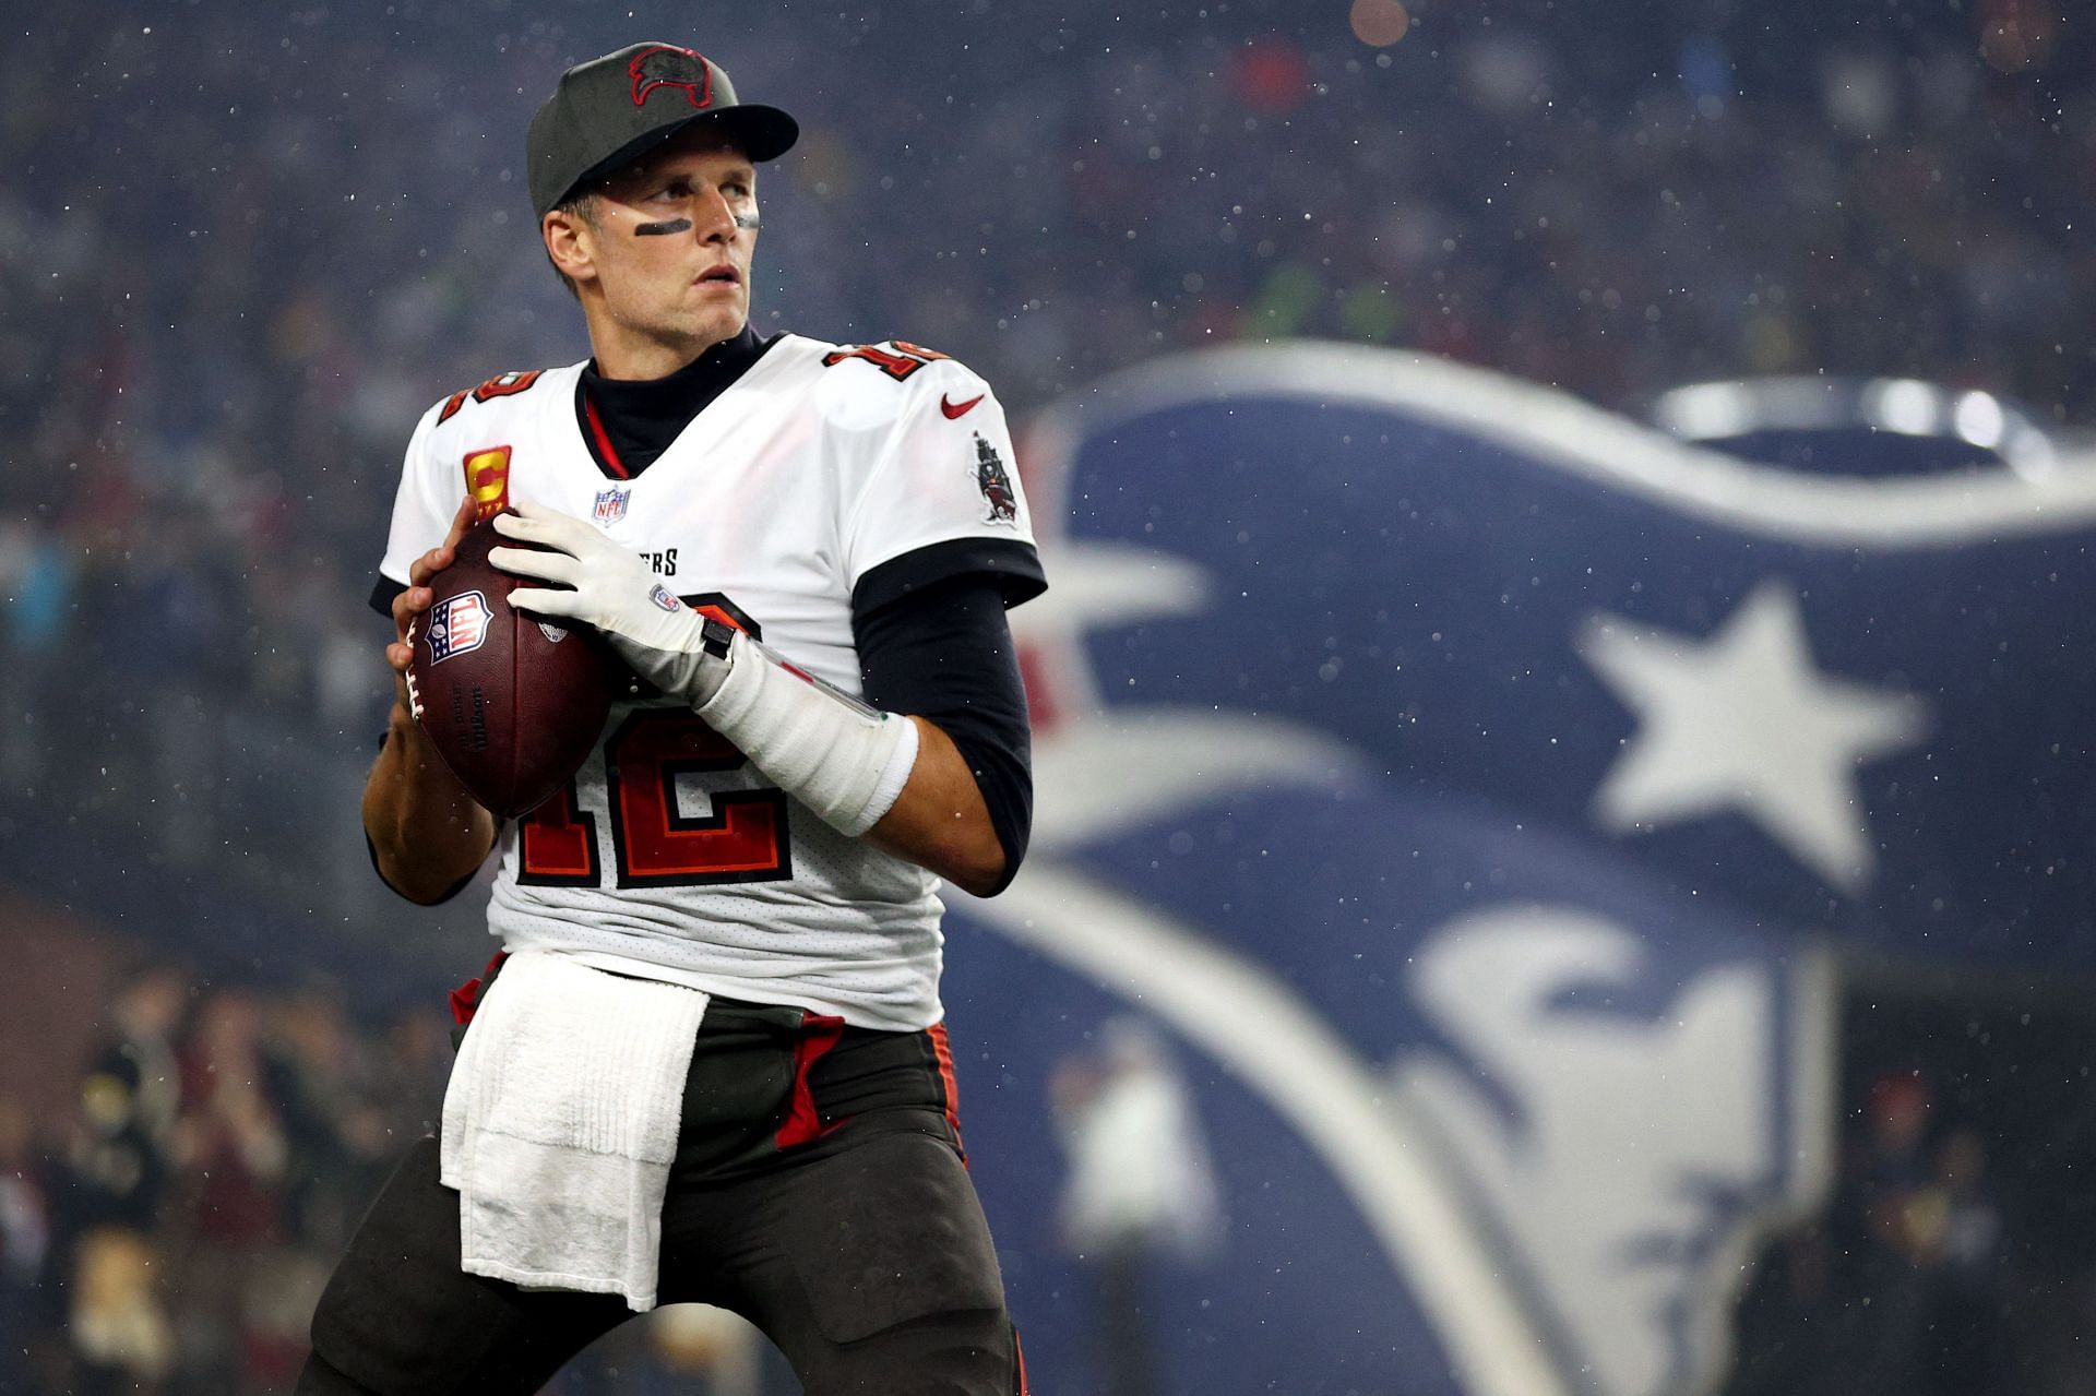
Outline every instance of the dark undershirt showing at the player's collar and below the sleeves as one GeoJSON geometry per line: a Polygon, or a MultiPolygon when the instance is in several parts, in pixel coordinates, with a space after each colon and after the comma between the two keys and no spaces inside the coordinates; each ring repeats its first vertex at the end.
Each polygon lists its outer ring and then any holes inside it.
{"type": "MultiPolygon", "coordinates": [[[[750,325],[669,377],[608,379],[591,361],[574,415],[597,467],[633,478],[782,335],[750,325]]],[[[1010,882],[1033,826],[1031,736],[1008,606],[1046,589],[1040,558],[1017,539],[954,539],[872,568],[851,593],[851,633],[866,700],[914,713],[952,738],[989,809],[1010,882]]],[[[392,616],[400,583],[379,576],[371,606],[392,616]]]]}

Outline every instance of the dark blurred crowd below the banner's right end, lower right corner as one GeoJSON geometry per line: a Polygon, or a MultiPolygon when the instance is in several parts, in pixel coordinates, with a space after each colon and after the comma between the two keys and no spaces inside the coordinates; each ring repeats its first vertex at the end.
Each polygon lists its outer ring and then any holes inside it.
{"type": "Polygon", "coordinates": [[[1857,977],[1828,1203],[1759,1256],[1725,1396],[2096,1390],[2086,998],[1857,977]]]}

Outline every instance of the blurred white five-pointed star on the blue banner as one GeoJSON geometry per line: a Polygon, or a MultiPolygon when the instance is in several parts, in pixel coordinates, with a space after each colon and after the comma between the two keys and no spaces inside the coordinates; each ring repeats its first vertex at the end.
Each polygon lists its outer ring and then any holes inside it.
{"type": "Polygon", "coordinates": [[[1844,893],[1876,855],[1857,765],[1928,727],[1909,694],[1821,673],[1798,593],[1767,581],[1708,639],[1589,616],[1580,658],[1637,715],[1595,792],[1610,830],[1652,830],[1735,809],[1844,893]]]}

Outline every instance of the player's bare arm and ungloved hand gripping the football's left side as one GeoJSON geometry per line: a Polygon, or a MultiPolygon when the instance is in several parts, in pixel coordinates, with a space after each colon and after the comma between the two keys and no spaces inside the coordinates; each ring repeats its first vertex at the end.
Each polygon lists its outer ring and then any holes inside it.
{"type": "Polygon", "coordinates": [[[432,906],[459,889],[495,847],[495,815],[482,809],[451,773],[436,746],[415,723],[407,702],[407,667],[415,650],[407,627],[430,610],[430,579],[453,562],[453,549],[474,522],[474,501],[459,505],[451,532],[409,566],[409,585],[394,597],[394,644],[386,662],[394,671],[394,706],[386,744],[365,780],[365,838],[386,885],[409,901],[432,906]]]}

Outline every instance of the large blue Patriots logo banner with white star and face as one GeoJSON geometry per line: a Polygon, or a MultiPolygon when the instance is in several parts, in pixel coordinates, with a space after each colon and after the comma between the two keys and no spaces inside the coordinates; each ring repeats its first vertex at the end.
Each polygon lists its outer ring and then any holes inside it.
{"type": "Polygon", "coordinates": [[[1044,1396],[1712,1390],[1830,1182],[1832,950],[2096,952],[2086,474],[1308,344],[1025,465],[1033,851],[945,1002],[1044,1396]]]}

